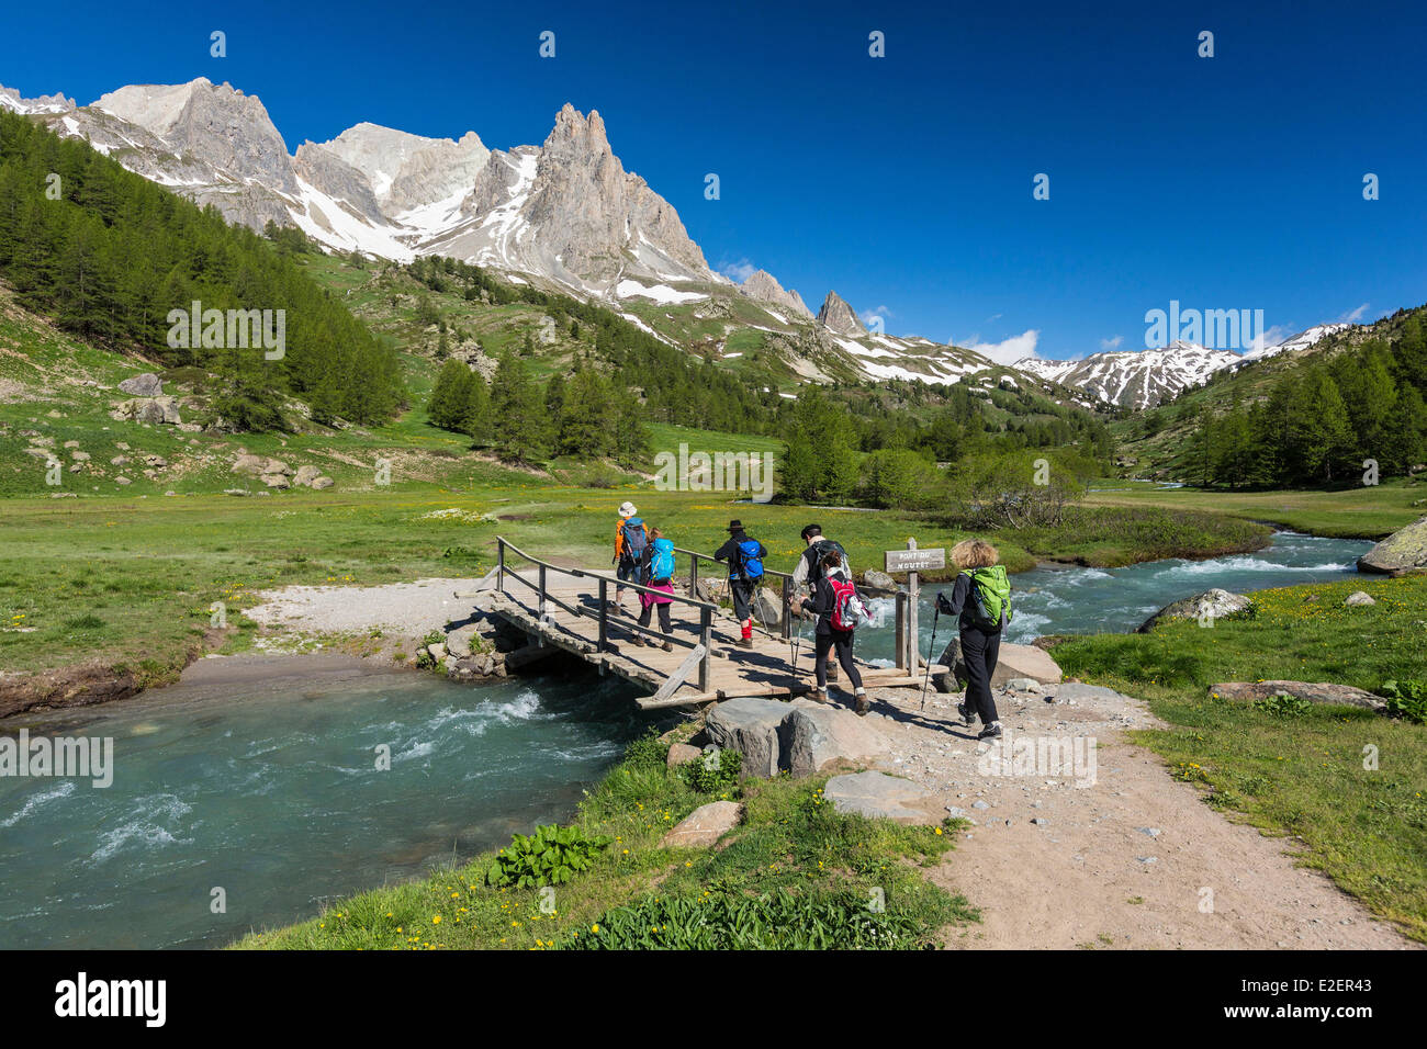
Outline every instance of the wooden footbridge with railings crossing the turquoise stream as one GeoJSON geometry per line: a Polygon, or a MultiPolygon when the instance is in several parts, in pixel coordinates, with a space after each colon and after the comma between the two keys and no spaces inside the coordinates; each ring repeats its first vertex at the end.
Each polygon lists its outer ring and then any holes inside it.
{"type": "MultiPolygon", "coordinates": [[[[712,555],[676,549],[688,558],[685,592],[672,595],[669,618],[674,651],[662,648],[658,614],[649,628],[638,624],[638,595],[651,591],[631,582],[618,584],[611,569],[567,568],[531,557],[518,547],[497,538],[495,569],[481,581],[475,598],[482,611],[525,631],[531,644],[554,645],[595,667],[651,689],[639,699],[645,709],[708,704],[735,696],[786,699],[813,685],[813,621],[799,631],[788,614],[792,577],[765,569],[768,581],[781,589],[776,622],[755,615],[753,647],[738,645],[739,625],[718,605],[699,597],[699,564],[716,565],[712,555]],[[614,589],[628,591],[625,607],[614,607],[614,589]],[[799,638],[801,632],[801,638],[799,638]],[[642,637],[646,645],[636,644],[642,637]]],[[[719,568],[722,575],[722,568],[719,568]]],[[[705,581],[706,582],[706,581],[705,581]]],[[[908,595],[898,594],[898,634],[905,635],[908,595]]],[[[915,635],[913,635],[915,637],[915,635]]],[[[866,688],[916,685],[922,678],[908,669],[916,667],[910,647],[898,644],[899,667],[879,668],[859,659],[866,688]],[[908,659],[912,659],[908,662],[908,659]]],[[[940,668],[932,668],[938,672],[940,668]]],[[[838,682],[850,689],[846,679],[838,682]]]]}

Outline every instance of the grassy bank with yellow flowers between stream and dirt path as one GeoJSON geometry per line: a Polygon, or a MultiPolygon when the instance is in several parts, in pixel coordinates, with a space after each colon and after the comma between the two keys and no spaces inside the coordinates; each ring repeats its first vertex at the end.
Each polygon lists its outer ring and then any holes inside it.
{"type": "MultiPolygon", "coordinates": [[[[836,901],[858,925],[890,935],[888,946],[929,942],[948,923],[976,921],[960,896],[922,879],[918,865],[933,863],[952,848],[943,828],[899,826],[833,812],[822,799],[825,776],[751,781],[746,808],[732,843],[721,849],[668,849],[665,832],[696,806],[739,788],[701,795],[665,768],[668,745],[652,739],[631,746],[625,761],[584,801],[574,821],[591,835],[612,838],[594,869],[555,889],[552,913],[537,889],[495,889],[484,872],[495,853],[428,879],[374,889],[337,902],[321,916],[285,929],[255,933],[243,948],[422,951],[440,948],[549,949],[608,938],[611,908],[658,906],[696,915],[681,925],[665,921],[639,929],[642,946],[678,945],[689,925],[725,905],[761,908],[763,893],[836,901]],[[866,913],[872,889],[882,889],[886,912],[866,913]],[[658,903],[655,903],[658,901],[658,903]],[[675,926],[675,928],[671,928],[675,926]],[[900,933],[900,935],[899,935],[900,933]]],[[[946,828],[953,824],[948,822],[946,828]]],[[[624,922],[628,925],[628,922],[624,922]]],[[[843,945],[852,922],[826,931],[826,946],[843,945]]],[[[738,929],[729,929],[736,932],[738,929]]],[[[812,946],[809,925],[768,929],[745,946],[812,946]]]]}

